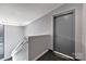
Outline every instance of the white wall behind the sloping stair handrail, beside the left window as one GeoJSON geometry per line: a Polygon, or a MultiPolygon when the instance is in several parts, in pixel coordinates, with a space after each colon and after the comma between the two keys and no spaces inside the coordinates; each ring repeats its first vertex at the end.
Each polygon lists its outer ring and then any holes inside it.
{"type": "Polygon", "coordinates": [[[4,57],[11,56],[12,50],[22,41],[24,36],[23,31],[23,27],[4,26],[4,57]]]}

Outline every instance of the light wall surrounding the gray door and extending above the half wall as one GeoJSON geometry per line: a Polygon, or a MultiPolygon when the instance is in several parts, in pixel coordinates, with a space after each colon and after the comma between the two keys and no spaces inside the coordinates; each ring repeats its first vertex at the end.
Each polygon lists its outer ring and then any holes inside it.
{"type": "MultiPolygon", "coordinates": [[[[75,9],[75,54],[76,57],[82,60],[83,59],[83,51],[82,51],[82,12],[83,7],[79,3],[69,3],[64,4],[52,12],[48,13],[47,15],[34,21],[29,25],[25,27],[25,36],[35,36],[35,35],[50,35],[53,36],[53,18],[52,15],[59,14],[61,12],[70,11],[75,9]]],[[[48,42],[48,48],[52,48],[52,37],[51,42],[48,42]]]]}

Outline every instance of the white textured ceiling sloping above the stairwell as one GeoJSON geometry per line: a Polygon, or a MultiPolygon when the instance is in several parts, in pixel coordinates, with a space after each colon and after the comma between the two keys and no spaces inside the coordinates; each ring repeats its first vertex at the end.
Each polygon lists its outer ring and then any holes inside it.
{"type": "Polygon", "coordinates": [[[59,3],[0,3],[0,24],[25,26],[60,5],[59,3]]]}

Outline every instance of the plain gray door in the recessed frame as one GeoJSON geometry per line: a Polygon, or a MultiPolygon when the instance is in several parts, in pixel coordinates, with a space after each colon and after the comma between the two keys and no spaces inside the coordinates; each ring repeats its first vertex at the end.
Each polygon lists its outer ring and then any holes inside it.
{"type": "Polygon", "coordinates": [[[75,53],[75,18],[74,13],[54,16],[53,50],[74,56],[75,53]]]}

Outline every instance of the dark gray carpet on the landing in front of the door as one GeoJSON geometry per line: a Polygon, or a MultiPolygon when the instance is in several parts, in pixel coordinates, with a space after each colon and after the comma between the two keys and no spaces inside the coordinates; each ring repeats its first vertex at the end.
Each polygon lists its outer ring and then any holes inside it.
{"type": "Polygon", "coordinates": [[[61,55],[56,55],[51,50],[40,56],[37,61],[76,61],[67,57],[63,57],[61,55]]]}

